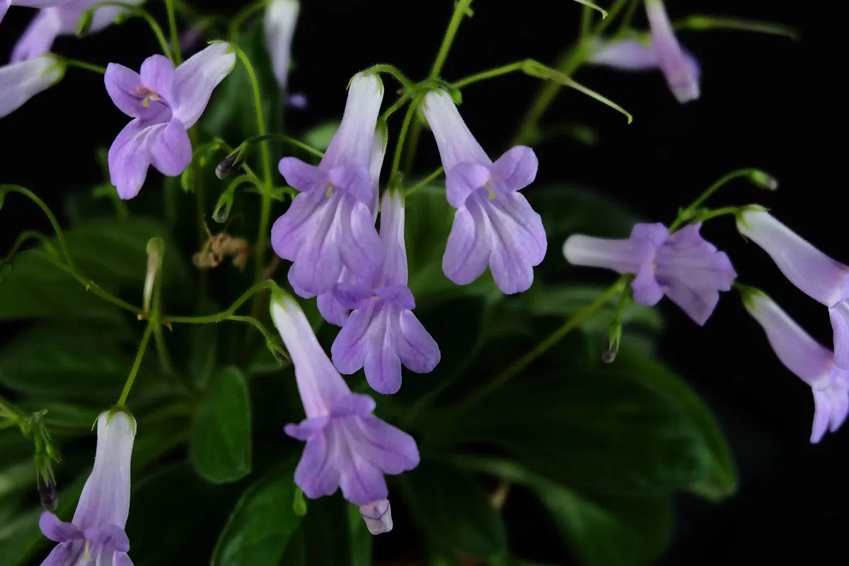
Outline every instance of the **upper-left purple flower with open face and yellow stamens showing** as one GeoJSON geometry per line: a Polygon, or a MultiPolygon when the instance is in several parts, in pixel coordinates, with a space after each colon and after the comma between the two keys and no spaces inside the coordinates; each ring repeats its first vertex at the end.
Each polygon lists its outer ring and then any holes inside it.
{"type": "Polygon", "coordinates": [[[133,118],[109,150],[110,177],[121,199],[138,194],[150,165],[168,177],[185,171],[192,160],[186,130],[235,63],[228,43],[213,43],[177,69],[163,55],[144,59],[141,73],[121,64],[106,67],[106,92],[133,118]]]}

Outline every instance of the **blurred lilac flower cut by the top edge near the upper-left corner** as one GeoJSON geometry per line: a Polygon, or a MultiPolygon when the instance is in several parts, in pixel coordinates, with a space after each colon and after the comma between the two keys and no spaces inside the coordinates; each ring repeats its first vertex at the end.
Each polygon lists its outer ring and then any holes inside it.
{"type": "MultiPolygon", "coordinates": [[[[117,0],[123,4],[138,5],[144,0],[117,0]]],[[[72,0],[61,6],[43,8],[26,27],[18,42],[12,50],[12,61],[23,61],[32,59],[44,53],[48,53],[53,47],[53,40],[58,36],[76,35],[76,23],[80,16],[88,8],[91,8],[99,0],[72,0]]],[[[98,8],[92,16],[89,33],[104,30],[115,22],[115,17],[124,8],[120,6],[103,6],[98,8]]]]}

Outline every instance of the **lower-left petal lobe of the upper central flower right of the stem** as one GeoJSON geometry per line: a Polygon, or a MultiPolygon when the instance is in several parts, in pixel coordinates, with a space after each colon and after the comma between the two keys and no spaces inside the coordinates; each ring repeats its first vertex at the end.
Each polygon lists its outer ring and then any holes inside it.
{"type": "Polygon", "coordinates": [[[442,255],[442,271],[458,285],[468,285],[486,270],[490,255],[486,222],[479,206],[464,206],[454,214],[442,255]]]}

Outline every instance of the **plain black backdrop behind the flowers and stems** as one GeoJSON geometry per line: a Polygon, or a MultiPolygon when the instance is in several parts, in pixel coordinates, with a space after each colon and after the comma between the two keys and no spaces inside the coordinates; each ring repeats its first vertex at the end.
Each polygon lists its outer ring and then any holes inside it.
{"type": "MultiPolygon", "coordinates": [[[[217,4],[216,9],[230,14],[241,5],[217,4]]],[[[305,112],[290,111],[289,131],[338,117],[346,81],[370,64],[396,64],[411,78],[423,78],[452,5],[449,0],[304,0],[290,89],[306,92],[310,106],[305,112]]],[[[162,15],[159,5],[150,8],[162,15]]],[[[840,15],[770,0],[669,0],[667,8],[673,20],[728,14],[794,25],[801,41],[735,31],[683,32],[681,41],[703,70],[701,99],[687,105],[672,98],[659,73],[580,70],[578,81],[629,109],[634,122],[627,126],[623,116],[577,92],[561,93],[546,120],[588,124],[598,130],[600,141],[590,148],[560,138],[537,148],[539,182],[592,188],[646,219],[668,223],[679,206],[726,172],[759,167],[779,179],[778,193],[762,193],[741,181],[723,189],[712,204],[766,205],[818,247],[849,261],[842,238],[846,173],[831,141],[842,139],[844,97],[832,90],[842,74],[835,48],[840,38],[814,21],[839,20],[840,15]]],[[[575,36],[580,11],[567,0],[478,0],[443,76],[450,81],[526,57],[551,63],[575,36]]],[[[31,13],[10,10],[0,27],[0,53],[10,53],[31,13]]],[[[644,15],[636,21],[645,25],[644,15]]],[[[69,57],[132,68],[156,48],[140,20],[85,41],[62,38],[54,46],[69,57]]],[[[491,154],[504,149],[537,87],[535,79],[510,76],[464,90],[464,117],[491,154]]],[[[108,146],[126,121],[110,103],[102,79],[69,70],[58,87],[0,120],[0,181],[23,184],[59,210],[65,193],[101,181],[93,148],[108,146]]],[[[422,141],[419,172],[438,164],[435,145],[426,136],[422,141]]],[[[49,231],[30,206],[15,199],[14,210],[10,204],[4,207],[0,248],[8,248],[21,229],[49,231]]],[[[703,233],[728,251],[741,282],[766,290],[829,344],[825,308],[787,283],[754,244],[745,244],[732,221],[711,222],[703,233]]],[[[561,244],[550,242],[548,253],[559,254],[561,244]]],[[[718,506],[679,499],[676,539],[664,563],[736,563],[743,559],[741,550],[762,558],[790,548],[806,549],[808,558],[828,546],[840,552],[841,538],[835,535],[849,526],[849,468],[843,458],[849,431],[827,434],[818,446],[808,443],[810,389],[779,364],[734,294],[725,296],[705,328],[668,301],[661,309],[668,319],[662,356],[716,412],[741,482],[739,493],[718,506]]]]}

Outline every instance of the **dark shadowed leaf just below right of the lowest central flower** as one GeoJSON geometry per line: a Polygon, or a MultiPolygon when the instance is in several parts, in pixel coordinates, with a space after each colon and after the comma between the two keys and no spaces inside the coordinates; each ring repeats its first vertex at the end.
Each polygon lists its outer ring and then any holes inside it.
{"type": "Polygon", "coordinates": [[[481,558],[507,549],[500,514],[486,490],[464,472],[423,461],[400,480],[408,507],[431,544],[481,558]]]}

